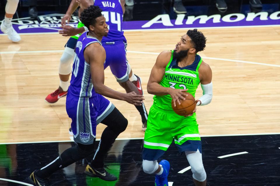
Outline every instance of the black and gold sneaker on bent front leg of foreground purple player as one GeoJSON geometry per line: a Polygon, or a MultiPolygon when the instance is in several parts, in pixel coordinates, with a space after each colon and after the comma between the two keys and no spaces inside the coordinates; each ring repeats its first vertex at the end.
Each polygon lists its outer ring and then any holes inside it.
{"type": "Polygon", "coordinates": [[[86,166],[84,173],[90,177],[97,177],[106,181],[115,181],[118,179],[113,174],[108,173],[104,168],[95,169],[92,168],[89,164],[86,166]]]}

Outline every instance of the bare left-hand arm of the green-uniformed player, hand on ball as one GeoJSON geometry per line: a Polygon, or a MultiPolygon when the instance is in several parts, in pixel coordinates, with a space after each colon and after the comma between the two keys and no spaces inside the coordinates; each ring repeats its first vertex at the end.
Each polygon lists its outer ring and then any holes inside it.
{"type": "Polygon", "coordinates": [[[152,68],[150,78],[147,84],[147,91],[154,95],[167,95],[170,94],[171,98],[174,100],[173,104],[181,104],[180,100],[185,100],[185,93],[188,89],[175,89],[170,87],[163,87],[160,85],[160,81],[165,74],[165,67],[171,58],[171,51],[161,52],[157,56],[157,61],[152,68]]]}

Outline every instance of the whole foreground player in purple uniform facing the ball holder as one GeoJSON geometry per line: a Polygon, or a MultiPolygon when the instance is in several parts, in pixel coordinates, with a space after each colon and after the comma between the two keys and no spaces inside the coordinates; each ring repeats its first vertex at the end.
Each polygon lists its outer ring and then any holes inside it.
{"type": "Polygon", "coordinates": [[[85,9],[80,17],[89,31],[84,32],[77,41],[66,98],[66,111],[72,119],[71,127],[77,146],[65,150],[53,162],[31,173],[29,181],[33,185],[47,186],[47,178],[53,172],[93,154],[98,123],[107,127],[101,135],[93,160],[86,167],[85,174],[107,181],[117,180],[117,177],[104,169],[104,157],[118,135],[126,129],[128,122],[102,95],[134,105],[141,105],[144,98],[135,92],[120,93],[104,85],[106,52],[100,41],[107,35],[108,25],[101,12],[98,6],[92,5],[85,9]]]}

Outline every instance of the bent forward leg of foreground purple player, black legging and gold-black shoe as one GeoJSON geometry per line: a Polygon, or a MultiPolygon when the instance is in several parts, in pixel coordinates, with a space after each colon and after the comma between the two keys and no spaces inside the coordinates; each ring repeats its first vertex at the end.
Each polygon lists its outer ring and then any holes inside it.
{"type": "Polygon", "coordinates": [[[98,148],[93,160],[86,167],[85,173],[88,176],[99,177],[107,181],[115,181],[117,177],[104,169],[104,159],[115,139],[121,132],[125,131],[128,121],[111,102],[101,95],[99,95],[99,104],[97,107],[99,107],[99,113],[96,122],[103,123],[107,127],[102,132],[98,148]]]}

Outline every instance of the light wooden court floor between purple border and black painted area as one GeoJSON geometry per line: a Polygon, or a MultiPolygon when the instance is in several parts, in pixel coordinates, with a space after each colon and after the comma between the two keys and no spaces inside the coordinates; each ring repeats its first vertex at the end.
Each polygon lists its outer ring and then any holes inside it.
{"type": "MultiPolygon", "coordinates": [[[[125,32],[127,58],[133,72],[142,78],[147,110],[153,95],[147,93],[146,85],[157,55],[174,49],[186,31],[125,32]]],[[[200,134],[279,133],[280,27],[201,31],[207,43],[199,55],[213,71],[213,99],[209,105],[197,107],[200,134]]],[[[66,97],[55,104],[44,100],[59,85],[58,65],[68,38],[58,33],[21,37],[16,44],[0,35],[0,143],[69,140],[71,119],[65,109],[66,97]]],[[[110,69],[105,70],[105,84],[125,92],[110,69]]],[[[199,86],[196,98],[201,95],[199,86]]],[[[135,107],[109,100],[129,121],[119,138],[143,137],[135,107]]],[[[98,125],[97,139],[104,128],[98,125]]]]}

